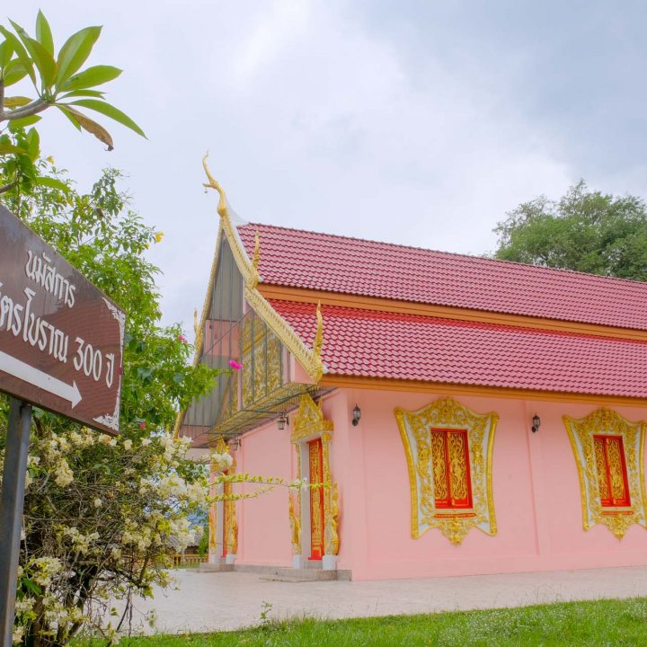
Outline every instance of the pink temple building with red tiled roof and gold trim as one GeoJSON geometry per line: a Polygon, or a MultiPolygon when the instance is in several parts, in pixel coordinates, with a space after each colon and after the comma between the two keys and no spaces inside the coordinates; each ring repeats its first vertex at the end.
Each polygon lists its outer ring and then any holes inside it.
{"type": "Polygon", "coordinates": [[[647,564],[647,283],[218,212],[196,361],[229,372],[177,430],[231,473],[324,485],[214,504],[210,562],[647,564]]]}

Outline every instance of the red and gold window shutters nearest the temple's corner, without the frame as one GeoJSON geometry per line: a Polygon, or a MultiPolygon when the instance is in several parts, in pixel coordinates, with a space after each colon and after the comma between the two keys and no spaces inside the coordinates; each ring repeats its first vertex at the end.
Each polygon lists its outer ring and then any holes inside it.
{"type": "Polygon", "coordinates": [[[472,508],[467,431],[432,429],[431,461],[436,508],[472,508]]]}

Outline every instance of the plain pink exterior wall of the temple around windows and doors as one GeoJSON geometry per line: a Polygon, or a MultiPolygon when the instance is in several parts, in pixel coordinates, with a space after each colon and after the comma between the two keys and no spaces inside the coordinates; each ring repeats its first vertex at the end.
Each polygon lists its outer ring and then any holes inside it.
{"type": "MultiPolygon", "coordinates": [[[[414,411],[438,394],[338,390],[323,400],[334,422],[332,478],[340,492],[338,568],[354,580],[473,573],[553,571],[647,563],[647,530],[632,526],[619,541],[607,527],[582,528],[581,493],[563,414],[582,418],[599,407],[456,396],[478,413],[497,412],[492,484],[498,533],[473,528],[453,545],[436,528],[411,536],[411,495],[396,406],[414,411]],[[362,417],[350,425],[358,404],[362,417]],[[537,412],[541,429],[533,434],[537,412]]],[[[604,403],[600,403],[603,406],[604,403]]],[[[630,421],[647,407],[613,407],[630,421]]],[[[238,471],[292,478],[296,456],[290,428],[276,424],[244,436],[238,471]]],[[[288,500],[284,490],[239,506],[239,563],[289,565],[288,500]]]]}

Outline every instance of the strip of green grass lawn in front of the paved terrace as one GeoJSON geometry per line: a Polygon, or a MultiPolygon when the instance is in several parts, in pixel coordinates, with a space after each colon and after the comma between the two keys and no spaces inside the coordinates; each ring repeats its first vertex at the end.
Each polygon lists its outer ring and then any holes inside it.
{"type": "Polygon", "coordinates": [[[124,639],[120,644],[129,647],[647,647],[647,598],[568,602],[425,616],[266,622],[244,631],[159,635],[124,639]]]}

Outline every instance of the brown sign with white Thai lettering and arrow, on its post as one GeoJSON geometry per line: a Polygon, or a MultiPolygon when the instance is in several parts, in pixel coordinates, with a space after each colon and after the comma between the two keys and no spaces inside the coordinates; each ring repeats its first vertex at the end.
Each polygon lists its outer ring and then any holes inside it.
{"type": "Polygon", "coordinates": [[[119,433],[126,315],[0,206],[0,391],[11,395],[0,498],[0,637],[12,644],[31,405],[119,433]]]}

